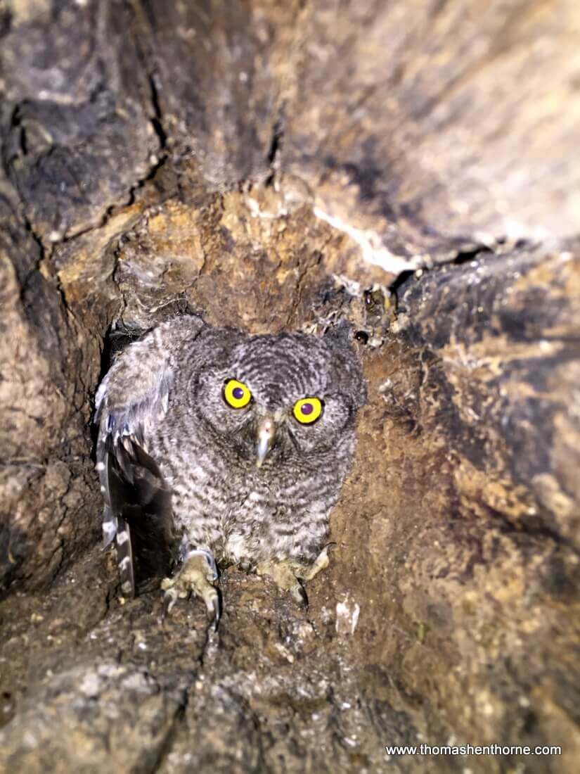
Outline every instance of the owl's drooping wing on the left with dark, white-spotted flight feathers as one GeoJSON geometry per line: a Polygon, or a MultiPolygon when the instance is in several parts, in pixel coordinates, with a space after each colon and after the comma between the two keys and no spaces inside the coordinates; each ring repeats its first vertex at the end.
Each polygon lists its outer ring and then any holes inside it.
{"type": "Polygon", "coordinates": [[[132,596],[137,567],[145,577],[169,573],[171,491],[147,440],[167,412],[179,344],[201,327],[196,317],[162,324],[119,355],[97,390],[104,546],[116,539],[121,589],[132,596]]]}

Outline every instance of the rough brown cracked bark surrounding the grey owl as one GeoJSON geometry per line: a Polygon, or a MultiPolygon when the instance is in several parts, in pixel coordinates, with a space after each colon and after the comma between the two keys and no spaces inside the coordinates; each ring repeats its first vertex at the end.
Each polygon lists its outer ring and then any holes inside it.
{"type": "Polygon", "coordinates": [[[579,26],[0,0],[2,770],[577,769],[579,26]],[[181,310],[352,324],[369,402],[308,614],[235,568],[217,635],[118,596],[94,390],[112,326],[181,310]],[[562,755],[385,755],[421,741],[562,755]]]}

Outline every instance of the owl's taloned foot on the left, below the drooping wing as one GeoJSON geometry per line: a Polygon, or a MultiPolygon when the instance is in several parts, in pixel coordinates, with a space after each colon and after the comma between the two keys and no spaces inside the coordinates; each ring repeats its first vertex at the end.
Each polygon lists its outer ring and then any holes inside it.
{"type": "Polygon", "coordinates": [[[161,581],[165,591],[163,614],[167,615],[178,599],[196,594],[203,599],[207,615],[216,628],[220,621],[220,595],[216,588],[217,567],[213,554],[203,548],[189,551],[178,573],[161,581]]]}

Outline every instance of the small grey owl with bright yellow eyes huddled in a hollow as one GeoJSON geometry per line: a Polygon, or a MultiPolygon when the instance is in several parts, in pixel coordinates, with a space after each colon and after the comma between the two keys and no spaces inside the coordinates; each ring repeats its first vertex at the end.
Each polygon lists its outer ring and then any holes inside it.
{"type": "Polygon", "coordinates": [[[165,575],[165,611],[195,594],[217,623],[218,567],[235,564],[307,604],[365,397],[339,328],[248,335],[186,315],[125,348],[95,420],[123,593],[165,575]]]}

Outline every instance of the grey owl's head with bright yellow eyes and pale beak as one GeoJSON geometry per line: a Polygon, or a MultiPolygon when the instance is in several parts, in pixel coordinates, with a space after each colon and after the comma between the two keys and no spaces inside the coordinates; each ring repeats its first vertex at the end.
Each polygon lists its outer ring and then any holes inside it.
{"type": "Polygon", "coordinates": [[[271,467],[352,438],[366,389],[346,341],[221,334],[197,375],[196,413],[237,457],[271,467]]]}

